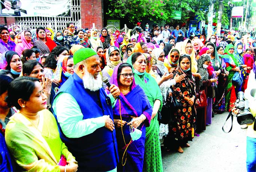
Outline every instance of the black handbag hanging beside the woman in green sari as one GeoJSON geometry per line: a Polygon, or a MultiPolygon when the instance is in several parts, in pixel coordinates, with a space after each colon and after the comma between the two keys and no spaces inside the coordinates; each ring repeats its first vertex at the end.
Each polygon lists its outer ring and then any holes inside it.
{"type": "Polygon", "coordinates": [[[168,124],[172,122],[172,114],[171,114],[171,101],[167,99],[164,100],[163,96],[163,105],[161,111],[158,110],[158,122],[162,124],[168,124]]]}

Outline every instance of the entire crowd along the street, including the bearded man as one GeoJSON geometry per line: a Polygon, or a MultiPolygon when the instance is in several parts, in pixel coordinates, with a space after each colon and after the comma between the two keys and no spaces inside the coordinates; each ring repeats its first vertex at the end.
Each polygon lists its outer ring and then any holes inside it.
{"type": "Polygon", "coordinates": [[[205,28],[140,25],[135,34],[73,23],[63,31],[0,28],[1,171],[163,171],[161,146],[183,153],[255,75],[250,33],[225,29],[207,39],[205,28]],[[167,104],[172,119],[160,123],[167,104]],[[110,163],[101,168],[102,157],[110,163]]]}

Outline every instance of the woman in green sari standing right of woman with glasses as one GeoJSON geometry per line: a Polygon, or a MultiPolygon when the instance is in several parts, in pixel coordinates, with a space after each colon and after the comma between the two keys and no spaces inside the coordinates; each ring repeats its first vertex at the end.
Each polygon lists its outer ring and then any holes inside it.
{"type": "Polygon", "coordinates": [[[133,66],[135,82],[144,90],[150,105],[153,107],[150,126],[146,127],[145,153],[143,171],[162,172],[161,146],[159,140],[158,109],[162,107],[161,90],[155,79],[146,73],[146,57],[144,54],[133,53],[127,60],[133,66]]]}

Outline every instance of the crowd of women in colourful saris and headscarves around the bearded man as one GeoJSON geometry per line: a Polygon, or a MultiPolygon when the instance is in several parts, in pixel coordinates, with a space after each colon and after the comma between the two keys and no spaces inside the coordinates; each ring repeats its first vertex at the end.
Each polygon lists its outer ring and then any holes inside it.
{"type": "Polygon", "coordinates": [[[22,171],[77,171],[75,157],[60,139],[51,103],[74,74],[73,54],[79,49],[93,49],[100,74],[121,91],[113,107],[118,171],[163,171],[161,146],[183,153],[215,113],[234,107],[238,91],[246,90],[248,75],[256,69],[255,46],[245,43],[250,37],[211,35],[206,40],[201,35],[176,42],[170,35],[159,40],[160,30],[138,29],[131,35],[103,28],[99,33],[77,30],[73,23],[55,33],[43,27],[17,30],[0,28],[3,171],[14,171],[11,159],[22,171]],[[159,123],[159,112],[167,105],[173,108],[168,113],[172,118],[159,123]],[[131,120],[138,131],[131,132],[131,120]]]}

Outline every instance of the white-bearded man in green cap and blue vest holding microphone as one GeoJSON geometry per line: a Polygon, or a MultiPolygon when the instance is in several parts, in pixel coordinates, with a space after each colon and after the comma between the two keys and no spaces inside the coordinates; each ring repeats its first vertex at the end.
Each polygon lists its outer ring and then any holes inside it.
{"type": "Polygon", "coordinates": [[[80,49],[73,60],[74,74],[52,103],[60,137],[76,157],[78,171],[116,171],[112,105],[120,90],[112,84],[107,95],[102,88],[100,60],[94,50],[80,49]]]}

